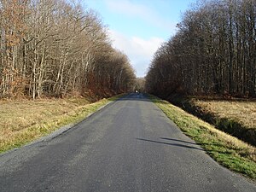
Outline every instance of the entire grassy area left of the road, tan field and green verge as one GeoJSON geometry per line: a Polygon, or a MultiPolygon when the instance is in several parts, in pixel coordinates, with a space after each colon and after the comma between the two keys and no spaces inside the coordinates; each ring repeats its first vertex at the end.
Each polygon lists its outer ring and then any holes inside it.
{"type": "Polygon", "coordinates": [[[85,98],[0,101],[0,153],[77,123],[118,97],[93,103],[85,98]]]}

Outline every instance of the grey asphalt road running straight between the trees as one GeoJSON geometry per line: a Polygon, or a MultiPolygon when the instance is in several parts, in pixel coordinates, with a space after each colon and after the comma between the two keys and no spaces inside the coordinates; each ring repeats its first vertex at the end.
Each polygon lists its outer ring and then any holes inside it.
{"type": "Polygon", "coordinates": [[[213,161],[142,94],[0,155],[0,191],[256,191],[213,161]]]}

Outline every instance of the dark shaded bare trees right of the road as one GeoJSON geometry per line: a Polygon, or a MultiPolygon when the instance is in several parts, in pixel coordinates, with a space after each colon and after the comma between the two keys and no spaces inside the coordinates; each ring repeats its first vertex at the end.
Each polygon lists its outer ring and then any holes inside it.
{"type": "Polygon", "coordinates": [[[256,96],[256,1],[201,1],[154,54],[146,89],[157,96],[256,96]]]}

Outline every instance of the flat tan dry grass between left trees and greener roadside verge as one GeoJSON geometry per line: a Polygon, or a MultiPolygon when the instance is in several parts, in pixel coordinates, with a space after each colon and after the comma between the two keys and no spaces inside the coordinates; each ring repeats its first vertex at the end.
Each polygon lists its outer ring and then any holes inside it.
{"type": "MultiPolygon", "coordinates": [[[[88,104],[85,99],[84,104],[88,104]]],[[[6,134],[73,111],[79,107],[79,104],[70,100],[54,99],[36,102],[2,102],[0,107],[0,131],[3,133],[1,137],[5,137],[6,134]]]]}

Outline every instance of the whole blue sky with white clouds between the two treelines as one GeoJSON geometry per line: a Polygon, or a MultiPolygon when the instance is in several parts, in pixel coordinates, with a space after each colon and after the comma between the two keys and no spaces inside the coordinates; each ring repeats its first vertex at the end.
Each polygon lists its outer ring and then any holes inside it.
{"type": "Polygon", "coordinates": [[[84,0],[108,26],[113,48],[128,56],[137,77],[144,77],[154,52],[177,32],[182,13],[195,0],[84,0]]]}

